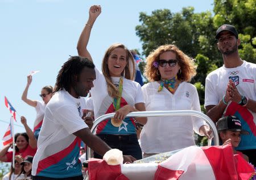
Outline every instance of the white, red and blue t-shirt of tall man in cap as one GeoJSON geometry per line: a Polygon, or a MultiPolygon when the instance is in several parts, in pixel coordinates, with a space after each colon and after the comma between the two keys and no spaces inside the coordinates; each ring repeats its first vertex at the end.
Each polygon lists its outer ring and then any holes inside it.
{"type": "MultiPolygon", "coordinates": [[[[256,101],[256,64],[243,61],[237,68],[221,68],[209,73],[205,80],[204,106],[217,105],[226,93],[229,79],[236,84],[241,95],[256,101]]],[[[256,149],[256,113],[237,103],[229,103],[224,111],[225,115],[234,115],[241,120],[242,128],[250,135],[241,135],[241,142],[237,150],[256,149]]]]}

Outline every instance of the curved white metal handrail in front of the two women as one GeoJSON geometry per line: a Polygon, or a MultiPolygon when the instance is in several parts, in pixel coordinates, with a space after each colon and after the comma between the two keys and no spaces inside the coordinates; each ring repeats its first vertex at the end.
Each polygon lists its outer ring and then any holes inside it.
{"type": "MultiPolygon", "coordinates": [[[[115,115],[115,112],[110,113],[110,114],[105,114],[97,118],[94,123],[93,127],[90,130],[92,133],[94,133],[97,125],[101,123],[102,121],[113,118],[115,115]]],[[[218,140],[218,131],[215,127],[215,124],[212,122],[212,120],[205,114],[199,111],[193,111],[193,110],[179,110],[179,111],[137,111],[137,112],[130,112],[127,114],[127,118],[131,117],[153,117],[153,116],[196,116],[198,118],[201,118],[205,120],[205,122],[209,125],[210,129],[213,131],[213,137],[214,137],[214,145],[219,145],[219,140],[218,140]]],[[[211,140],[208,140],[208,145],[210,145],[211,140]]],[[[86,160],[91,157],[91,150],[87,146],[86,147],[86,160]]]]}

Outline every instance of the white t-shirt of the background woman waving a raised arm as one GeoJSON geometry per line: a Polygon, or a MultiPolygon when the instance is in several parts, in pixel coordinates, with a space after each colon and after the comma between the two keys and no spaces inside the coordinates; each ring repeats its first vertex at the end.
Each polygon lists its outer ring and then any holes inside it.
{"type": "Polygon", "coordinates": [[[34,122],[34,131],[42,127],[44,119],[44,112],[46,111],[46,104],[43,101],[36,101],[36,119],[34,122]]]}

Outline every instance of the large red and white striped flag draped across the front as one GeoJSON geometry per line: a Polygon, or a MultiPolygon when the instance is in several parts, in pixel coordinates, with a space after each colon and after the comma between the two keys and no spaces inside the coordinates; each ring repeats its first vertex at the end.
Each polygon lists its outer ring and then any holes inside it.
{"type": "Polygon", "coordinates": [[[189,146],[166,161],[110,166],[104,160],[91,159],[88,164],[90,180],[243,180],[254,169],[232,146],[189,146]]]}

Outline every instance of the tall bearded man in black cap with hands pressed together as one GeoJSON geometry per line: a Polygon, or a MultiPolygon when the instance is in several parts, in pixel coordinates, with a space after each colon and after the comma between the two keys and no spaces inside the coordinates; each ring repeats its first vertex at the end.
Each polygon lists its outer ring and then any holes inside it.
{"type": "Polygon", "coordinates": [[[234,26],[223,24],[215,37],[224,65],[206,78],[204,106],[213,122],[223,115],[236,115],[241,120],[250,135],[241,135],[236,150],[246,154],[256,165],[256,65],[240,58],[241,41],[234,26]]]}

